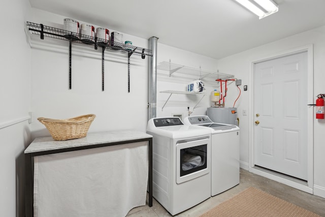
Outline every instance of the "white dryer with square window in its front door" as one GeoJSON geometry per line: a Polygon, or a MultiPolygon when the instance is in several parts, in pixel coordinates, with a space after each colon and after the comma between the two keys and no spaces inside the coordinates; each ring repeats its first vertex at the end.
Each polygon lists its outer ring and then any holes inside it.
{"type": "Polygon", "coordinates": [[[211,196],[211,132],[179,117],[151,118],[153,197],[172,215],[211,196]]]}

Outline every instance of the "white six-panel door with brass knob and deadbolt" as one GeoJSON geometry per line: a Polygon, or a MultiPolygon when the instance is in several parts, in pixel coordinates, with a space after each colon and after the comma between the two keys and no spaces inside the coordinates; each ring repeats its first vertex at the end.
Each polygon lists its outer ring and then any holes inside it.
{"type": "Polygon", "coordinates": [[[307,180],[307,52],[254,65],[254,164],[307,180]]]}

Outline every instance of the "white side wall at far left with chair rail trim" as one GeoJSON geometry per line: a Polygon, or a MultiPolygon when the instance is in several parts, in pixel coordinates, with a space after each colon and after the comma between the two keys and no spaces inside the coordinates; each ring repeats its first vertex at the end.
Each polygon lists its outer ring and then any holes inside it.
{"type": "Polygon", "coordinates": [[[24,216],[25,170],[23,151],[30,143],[30,48],[25,20],[30,5],[24,0],[0,3],[0,216],[24,216]],[[20,123],[20,120],[24,120],[20,123]]]}

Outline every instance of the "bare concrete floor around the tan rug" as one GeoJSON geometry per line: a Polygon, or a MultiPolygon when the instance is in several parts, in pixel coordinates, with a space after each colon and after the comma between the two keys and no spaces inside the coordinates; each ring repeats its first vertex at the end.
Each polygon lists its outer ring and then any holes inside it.
{"type": "MultiPolygon", "coordinates": [[[[320,216],[325,217],[325,198],[314,196],[306,192],[288,187],[285,184],[281,184],[277,181],[265,178],[263,176],[250,173],[247,170],[240,170],[240,183],[234,188],[223,192],[219,195],[211,197],[202,203],[194,206],[184,212],[181,212],[175,216],[190,216],[196,217],[212,209],[221,202],[232,198],[239,194],[248,187],[254,187],[281,198],[285,201],[293,203],[297,206],[310,210],[320,216]]],[[[148,204],[148,200],[147,200],[148,204]]],[[[155,199],[153,199],[152,207],[140,206],[130,210],[127,216],[132,217],[167,217],[172,216],[163,206],[161,206],[155,199]]],[[[243,216],[244,217],[244,216],[243,216]]]]}

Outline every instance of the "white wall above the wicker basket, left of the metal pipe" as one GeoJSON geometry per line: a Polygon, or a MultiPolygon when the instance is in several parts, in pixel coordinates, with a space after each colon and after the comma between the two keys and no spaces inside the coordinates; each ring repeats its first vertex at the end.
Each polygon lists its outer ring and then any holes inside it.
{"type": "MultiPolygon", "coordinates": [[[[34,22],[63,28],[64,17],[36,9],[33,14],[34,22]]],[[[112,32],[110,26],[104,27],[112,32]]],[[[147,39],[123,33],[123,40],[148,47],[147,39]]],[[[73,43],[72,89],[69,89],[69,43],[49,38],[42,41],[39,37],[31,43],[33,138],[49,135],[37,117],[61,119],[89,113],[96,115],[89,132],[146,131],[148,56],[145,59],[135,54],[131,56],[131,90],[128,93],[127,53],[105,51],[105,91],[102,91],[101,49],[73,43]]]]}

